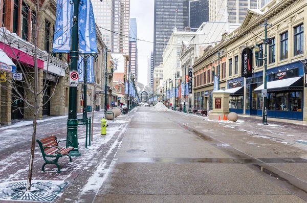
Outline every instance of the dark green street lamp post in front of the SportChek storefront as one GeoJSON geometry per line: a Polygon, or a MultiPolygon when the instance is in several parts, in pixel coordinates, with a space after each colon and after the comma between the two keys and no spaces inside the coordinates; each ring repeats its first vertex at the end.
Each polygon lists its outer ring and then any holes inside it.
{"type": "MultiPolygon", "coordinates": [[[[259,56],[259,47],[258,44],[256,43],[256,46],[254,48],[255,52],[255,58],[256,58],[256,65],[258,65],[258,60],[264,60],[265,61],[265,68],[264,68],[264,73],[263,73],[263,80],[264,80],[264,89],[267,90],[267,44],[271,39],[267,38],[267,27],[272,26],[271,24],[268,24],[267,18],[265,19],[265,24],[260,24],[260,26],[265,27],[265,39],[264,39],[264,44],[265,44],[265,58],[258,58],[259,56]]],[[[268,111],[267,111],[267,96],[264,97],[264,104],[262,106],[262,124],[263,125],[268,125],[268,111]]]]}

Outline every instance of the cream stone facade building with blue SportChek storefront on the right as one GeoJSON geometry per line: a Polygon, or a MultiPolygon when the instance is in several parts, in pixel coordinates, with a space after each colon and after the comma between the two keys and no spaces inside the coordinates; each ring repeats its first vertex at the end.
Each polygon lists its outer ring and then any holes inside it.
{"type": "MultiPolygon", "coordinates": [[[[212,71],[211,67],[215,65],[216,74],[216,61],[220,53],[220,87],[228,89],[227,92],[230,93],[230,111],[262,117],[261,89],[264,88],[263,81],[267,80],[266,107],[269,120],[307,121],[304,87],[306,41],[303,30],[307,24],[306,14],[307,6],[302,0],[276,0],[261,10],[248,10],[238,29],[224,35],[224,41],[212,49],[208,48],[204,56],[195,61],[194,96],[197,93],[198,99],[200,93],[201,104],[205,103],[202,102],[202,94],[209,94],[211,99],[210,94],[214,85],[210,70],[212,71]],[[270,38],[267,45],[267,72],[264,73],[264,60],[258,60],[256,64],[253,54],[252,74],[247,78],[243,77],[243,49],[249,48],[254,53],[257,44],[260,48],[258,58],[265,57],[265,28],[259,26],[264,24],[265,19],[268,20],[267,37],[270,38]],[[205,71],[207,80],[204,81],[201,78],[205,71]]],[[[205,105],[200,105],[200,108],[204,107],[205,105]]]]}

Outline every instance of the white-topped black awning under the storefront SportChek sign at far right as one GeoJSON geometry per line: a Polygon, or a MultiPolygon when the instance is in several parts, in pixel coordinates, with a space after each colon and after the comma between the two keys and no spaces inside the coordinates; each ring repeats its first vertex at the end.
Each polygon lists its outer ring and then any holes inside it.
{"type": "MultiPolygon", "coordinates": [[[[255,88],[254,93],[260,93],[264,89],[264,84],[255,88]]],[[[303,90],[303,77],[287,78],[283,80],[276,80],[267,83],[267,92],[286,91],[286,90],[303,90]]]]}

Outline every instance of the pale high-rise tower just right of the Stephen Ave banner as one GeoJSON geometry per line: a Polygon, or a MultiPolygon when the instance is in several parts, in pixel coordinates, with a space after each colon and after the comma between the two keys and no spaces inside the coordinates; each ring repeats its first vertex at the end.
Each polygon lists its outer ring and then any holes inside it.
{"type": "Polygon", "coordinates": [[[107,48],[112,52],[128,54],[130,0],[92,0],[92,3],[96,24],[107,48]]]}

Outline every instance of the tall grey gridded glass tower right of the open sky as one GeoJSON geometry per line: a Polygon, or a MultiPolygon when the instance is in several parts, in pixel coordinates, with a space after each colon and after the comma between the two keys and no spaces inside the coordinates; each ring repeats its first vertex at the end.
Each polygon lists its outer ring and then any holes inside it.
{"type": "Polygon", "coordinates": [[[184,9],[187,9],[184,8],[183,2],[184,0],[155,0],[153,24],[153,53],[155,54],[155,66],[163,62],[163,50],[174,28],[182,31],[184,29],[184,21],[188,20],[189,16],[183,15],[184,9]]]}

